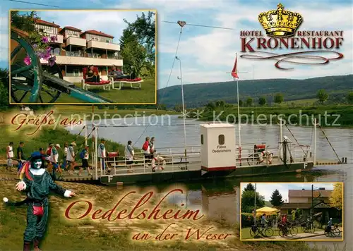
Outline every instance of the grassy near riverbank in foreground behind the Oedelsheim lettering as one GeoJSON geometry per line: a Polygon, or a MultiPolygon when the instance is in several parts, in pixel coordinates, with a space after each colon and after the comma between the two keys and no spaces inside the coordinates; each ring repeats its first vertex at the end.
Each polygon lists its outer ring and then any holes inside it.
{"type": "MultiPolygon", "coordinates": [[[[1,190],[0,197],[8,197],[10,200],[23,199],[23,194],[16,192],[15,180],[0,181],[1,190]]],[[[50,212],[47,228],[47,235],[42,241],[42,250],[292,250],[292,251],[309,251],[311,249],[304,242],[296,243],[242,243],[239,240],[239,228],[221,223],[220,221],[184,221],[177,222],[171,232],[185,233],[188,228],[194,230],[201,229],[205,231],[213,227],[213,233],[229,233],[232,238],[226,240],[205,240],[196,237],[189,240],[174,241],[154,241],[148,240],[131,240],[131,236],[136,233],[150,233],[157,235],[161,233],[170,223],[168,221],[148,222],[138,220],[65,220],[64,212],[68,204],[76,200],[89,200],[97,208],[107,208],[114,205],[118,201],[117,197],[126,194],[123,190],[112,190],[99,185],[88,185],[78,183],[56,182],[64,188],[69,188],[76,192],[77,198],[64,199],[57,195],[51,195],[50,212]],[[205,228],[207,226],[207,228],[205,228]]],[[[147,189],[148,190],[148,189],[147,189]]],[[[145,191],[147,191],[145,190],[145,191]]],[[[141,192],[140,192],[141,194],[141,192]]],[[[128,204],[135,201],[129,200],[128,204]]],[[[121,205],[123,206],[123,205],[121,205]]],[[[168,207],[169,208],[169,207],[168,207]]],[[[83,209],[79,207],[79,209],[83,209]]],[[[77,213],[77,212],[76,212],[77,213]]],[[[6,250],[20,250],[22,243],[23,231],[25,229],[26,207],[5,207],[1,203],[0,206],[0,238],[1,246],[6,250]],[[9,231],[11,229],[11,231],[9,231]]],[[[314,249],[315,250],[315,249],[314,249]]],[[[330,250],[330,249],[328,249],[330,250]]]]}

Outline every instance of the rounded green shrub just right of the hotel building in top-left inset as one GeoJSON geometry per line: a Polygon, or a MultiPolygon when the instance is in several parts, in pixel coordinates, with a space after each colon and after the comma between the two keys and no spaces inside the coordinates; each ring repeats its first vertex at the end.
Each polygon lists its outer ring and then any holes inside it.
{"type": "Polygon", "coordinates": [[[145,66],[145,47],[138,44],[137,39],[133,39],[124,44],[124,49],[121,50],[121,56],[124,59],[124,71],[126,73],[132,73],[132,75],[137,78],[143,66],[145,66]]]}

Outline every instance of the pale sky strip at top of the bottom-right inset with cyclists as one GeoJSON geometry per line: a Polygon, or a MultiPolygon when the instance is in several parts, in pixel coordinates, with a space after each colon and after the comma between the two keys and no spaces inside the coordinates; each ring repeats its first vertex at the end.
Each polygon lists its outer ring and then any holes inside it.
{"type": "MultiPolygon", "coordinates": [[[[244,190],[248,183],[241,183],[241,190],[244,190]]],[[[255,185],[255,183],[252,183],[255,185]]],[[[282,199],[288,202],[288,190],[311,190],[311,185],[314,185],[314,190],[325,188],[325,190],[333,190],[333,183],[256,183],[256,191],[265,196],[266,201],[270,201],[274,190],[280,191],[282,199]]]]}

